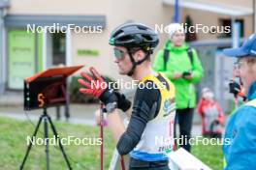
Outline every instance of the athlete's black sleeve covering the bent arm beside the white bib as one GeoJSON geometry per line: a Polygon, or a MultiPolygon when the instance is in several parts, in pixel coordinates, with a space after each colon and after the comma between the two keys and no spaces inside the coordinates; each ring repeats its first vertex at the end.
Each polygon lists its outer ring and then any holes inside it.
{"type": "Polygon", "coordinates": [[[138,88],[128,128],[121,135],[116,146],[119,155],[127,155],[139,143],[146,123],[155,117],[159,105],[158,99],[160,99],[158,89],[138,88]]]}

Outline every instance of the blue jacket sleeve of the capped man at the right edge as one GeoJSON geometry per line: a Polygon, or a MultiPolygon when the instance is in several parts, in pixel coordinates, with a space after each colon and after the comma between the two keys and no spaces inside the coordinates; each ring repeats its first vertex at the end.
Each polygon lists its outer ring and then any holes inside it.
{"type": "Polygon", "coordinates": [[[243,110],[237,120],[238,128],[233,131],[236,135],[230,145],[227,166],[225,170],[249,170],[256,169],[256,114],[254,108],[243,110]],[[245,115],[245,117],[243,116],[245,115]]]}

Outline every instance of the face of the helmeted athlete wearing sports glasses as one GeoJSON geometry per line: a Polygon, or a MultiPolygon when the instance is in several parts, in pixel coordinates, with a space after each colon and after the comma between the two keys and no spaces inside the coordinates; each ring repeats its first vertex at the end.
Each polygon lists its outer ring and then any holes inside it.
{"type": "Polygon", "coordinates": [[[127,49],[121,46],[115,46],[113,51],[115,56],[114,63],[117,64],[119,73],[123,75],[127,74],[133,67],[127,49]]]}

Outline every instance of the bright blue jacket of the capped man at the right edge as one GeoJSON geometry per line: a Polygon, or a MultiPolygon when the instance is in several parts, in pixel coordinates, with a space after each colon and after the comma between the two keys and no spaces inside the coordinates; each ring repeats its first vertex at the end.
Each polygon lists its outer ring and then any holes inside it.
{"type": "MultiPolygon", "coordinates": [[[[249,88],[248,100],[256,99],[256,81],[249,88]]],[[[223,155],[224,170],[256,169],[256,105],[243,105],[227,124],[223,155]]]]}

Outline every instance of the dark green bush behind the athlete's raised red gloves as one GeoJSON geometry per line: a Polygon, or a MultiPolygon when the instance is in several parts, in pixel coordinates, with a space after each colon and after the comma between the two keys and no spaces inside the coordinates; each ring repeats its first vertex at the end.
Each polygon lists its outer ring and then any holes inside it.
{"type": "MultiPolygon", "coordinates": [[[[115,82],[109,76],[102,76],[107,82],[115,82]]],[[[89,95],[84,95],[80,93],[80,83],[78,83],[78,79],[80,76],[73,76],[71,79],[71,83],[69,85],[69,93],[70,93],[70,101],[74,103],[95,103],[98,102],[98,99],[93,98],[89,95]]]]}

